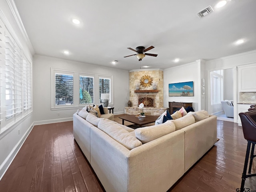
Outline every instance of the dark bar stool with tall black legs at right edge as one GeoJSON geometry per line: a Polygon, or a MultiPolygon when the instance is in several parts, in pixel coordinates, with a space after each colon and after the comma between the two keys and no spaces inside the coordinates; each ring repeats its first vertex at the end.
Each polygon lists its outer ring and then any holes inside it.
{"type": "Polygon", "coordinates": [[[256,155],[254,155],[254,147],[256,144],[256,111],[252,110],[244,113],[239,113],[239,116],[242,122],[244,138],[248,142],[245,161],[244,161],[244,171],[242,174],[242,182],[240,187],[240,191],[242,192],[244,191],[244,183],[246,178],[256,176],[256,174],[251,174],[252,160],[254,157],[256,157],[256,155]],[[252,144],[252,150],[250,155],[251,144],[252,144]],[[250,164],[249,164],[248,175],[246,175],[249,156],[250,156],[250,164]]]}

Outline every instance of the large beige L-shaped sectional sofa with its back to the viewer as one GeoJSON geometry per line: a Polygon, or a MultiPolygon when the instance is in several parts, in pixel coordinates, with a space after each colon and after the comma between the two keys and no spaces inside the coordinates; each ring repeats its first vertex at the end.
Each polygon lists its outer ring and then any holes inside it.
{"type": "Polygon", "coordinates": [[[200,111],[136,130],[73,115],[74,138],[107,192],[165,192],[216,142],[216,116],[200,111]]]}

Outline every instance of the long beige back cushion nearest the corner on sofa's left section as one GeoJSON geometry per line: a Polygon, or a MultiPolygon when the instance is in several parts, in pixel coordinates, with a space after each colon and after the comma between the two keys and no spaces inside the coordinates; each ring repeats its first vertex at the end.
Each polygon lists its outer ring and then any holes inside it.
{"type": "Polygon", "coordinates": [[[142,142],[136,137],[124,130],[124,128],[120,127],[118,124],[113,123],[111,120],[102,119],[98,124],[98,128],[118,143],[125,146],[128,150],[142,145],[142,142]]]}

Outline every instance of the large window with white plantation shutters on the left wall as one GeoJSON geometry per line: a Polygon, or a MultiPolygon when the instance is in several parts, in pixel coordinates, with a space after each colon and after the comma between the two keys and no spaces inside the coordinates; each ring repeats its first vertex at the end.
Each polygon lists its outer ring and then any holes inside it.
{"type": "Polygon", "coordinates": [[[10,31],[0,18],[0,132],[32,110],[31,62],[10,31]]]}

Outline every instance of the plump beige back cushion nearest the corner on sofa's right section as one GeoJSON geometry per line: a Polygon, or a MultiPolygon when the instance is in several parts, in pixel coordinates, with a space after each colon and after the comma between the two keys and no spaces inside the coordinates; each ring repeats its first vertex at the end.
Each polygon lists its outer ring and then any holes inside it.
{"type": "Polygon", "coordinates": [[[137,128],[135,135],[144,144],[174,131],[174,123],[172,121],[166,121],[163,124],[137,128]]]}

